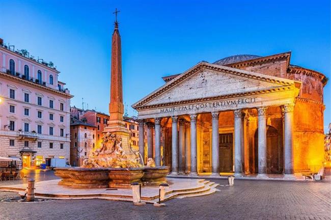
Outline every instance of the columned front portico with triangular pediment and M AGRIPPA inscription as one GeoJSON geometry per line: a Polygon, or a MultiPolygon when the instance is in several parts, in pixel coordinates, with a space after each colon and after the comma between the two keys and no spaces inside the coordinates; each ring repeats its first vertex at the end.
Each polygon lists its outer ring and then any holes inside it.
{"type": "Polygon", "coordinates": [[[132,107],[155,126],[155,153],[148,144],[148,157],[171,166],[173,174],[293,175],[293,108],[300,86],[201,62],[132,107]]]}

